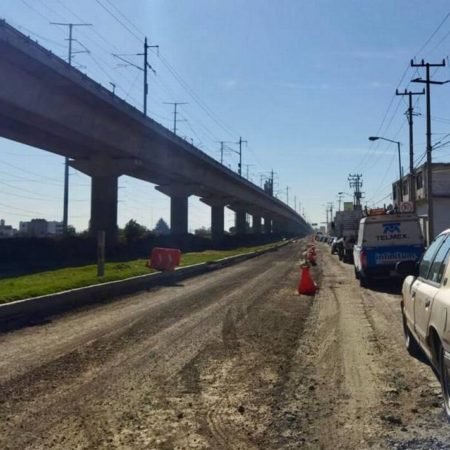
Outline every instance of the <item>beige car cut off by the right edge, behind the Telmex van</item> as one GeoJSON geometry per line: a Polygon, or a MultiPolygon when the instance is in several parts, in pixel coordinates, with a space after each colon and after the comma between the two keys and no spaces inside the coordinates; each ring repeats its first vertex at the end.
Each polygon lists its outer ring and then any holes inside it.
{"type": "Polygon", "coordinates": [[[439,376],[444,407],[450,420],[450,229],[429,246],[420,264],[402,262],[408,275],[402,288],[402,316],[408,352],[427,358],[439,376]]]}

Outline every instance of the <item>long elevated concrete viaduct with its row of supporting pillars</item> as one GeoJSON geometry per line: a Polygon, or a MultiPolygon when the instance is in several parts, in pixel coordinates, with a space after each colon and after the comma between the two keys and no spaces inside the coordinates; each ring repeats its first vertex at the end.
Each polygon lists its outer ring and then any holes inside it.
{"type": "Polygon", "coordinates": [[[211,207],[213,238],[223,236],[224,208],[237,233],[306,234],[292,208],[176,136],[5,22],[0,22],[0,136],[70,158],[92,178],[92,231],[117,230],[118,178],[156,185],[170,197],[171,230],[188,230],[188,198],[211,207]],[[276,227],[275,227],[276,224],[276,227]]]}

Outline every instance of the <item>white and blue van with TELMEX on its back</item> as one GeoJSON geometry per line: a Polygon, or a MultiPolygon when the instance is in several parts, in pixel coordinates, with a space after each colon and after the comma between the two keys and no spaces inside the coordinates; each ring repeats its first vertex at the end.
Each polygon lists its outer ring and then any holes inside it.
{"type": "Polygon", "coordinates": [[[367,287],[375,278],[398,277],[399,261],[420,259],[424,252],[415,214],[377,214],[361,219],[353,250],[355,277],[367,287]]]}

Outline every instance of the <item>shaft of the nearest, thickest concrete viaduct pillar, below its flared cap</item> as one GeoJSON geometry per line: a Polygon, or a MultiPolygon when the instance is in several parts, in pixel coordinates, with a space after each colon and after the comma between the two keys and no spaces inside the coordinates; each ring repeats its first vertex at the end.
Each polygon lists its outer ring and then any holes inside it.
{"type": "Polygon", "coordinates": [[[96,235],[105,231],[107,242],[117,237],[118,176],[92,176],[91,221],[89,229],[96,235]]]}

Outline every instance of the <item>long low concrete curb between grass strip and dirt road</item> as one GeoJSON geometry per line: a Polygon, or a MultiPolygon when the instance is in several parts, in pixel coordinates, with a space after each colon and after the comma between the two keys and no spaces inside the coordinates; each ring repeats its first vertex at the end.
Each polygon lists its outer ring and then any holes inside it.
{"type": "Polygon", "coordinates": [[[207,272],[219,270],[224,267],[246,261],[265,253],[277,251],[295,240],[283,242],[274,247],[244,253],[227,258],[180,267],[174,272],[158,272],[148,275],[126,278],[124,280],[110,281],[55,294],[16,300],[0,305],[0,330],[23,323],[27,320],[42,320],[46,316],[79,308],[89,304],[100,303],[107,299],[115,299],[124,295],[145,291],[154,286],[171,285],[207,272]]]}

